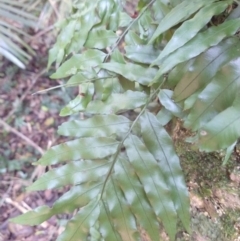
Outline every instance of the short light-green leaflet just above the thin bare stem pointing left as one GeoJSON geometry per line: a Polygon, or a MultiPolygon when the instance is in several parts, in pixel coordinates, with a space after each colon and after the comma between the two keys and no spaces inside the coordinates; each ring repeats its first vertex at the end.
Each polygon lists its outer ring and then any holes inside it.
{"type": "Polygon", "coordinates": [[[64,62],[54,73],[51,75],[53,79],[66,78],[70,75],[76,74],[79,70],[91,69],[96,67],[105,58],[106,54],[99,50],[88,49],[82,54],[75,54],[69,60],[64,62]]]}

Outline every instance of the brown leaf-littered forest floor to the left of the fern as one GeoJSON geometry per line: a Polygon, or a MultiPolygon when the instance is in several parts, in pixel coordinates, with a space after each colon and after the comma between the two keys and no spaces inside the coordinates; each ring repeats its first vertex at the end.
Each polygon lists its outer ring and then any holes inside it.
{"type": "Polygon", "coordinates": [[[52,205],[64,191],[25,192],[45,172],[32,163],[44,150],[64,140],[56,134],[57,126],[66,120],[59,112],[75,91],[59,88],[33,95],[62,83],[50,80],[45,69],[52,39],[42,36],[30,43],[37,55],[25,70],[6,60],[0,66],[0,241],[55,240],[68,218],[52,218],[38,227],[8,221],[37,206],[52,205]]]}

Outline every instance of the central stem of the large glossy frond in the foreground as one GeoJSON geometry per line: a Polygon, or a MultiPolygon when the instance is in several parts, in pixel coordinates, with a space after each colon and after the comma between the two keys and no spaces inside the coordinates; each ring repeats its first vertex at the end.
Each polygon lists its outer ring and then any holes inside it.
{"type": "Polygon", "coordinates": [[[122,149],[122,146],[123,146],[123,143],[124,141],[128,138],[129,134],[132,132],[132,129],[134,128],[135,124],[137,123],[137,121],[139,120],[139,118],[141,117],[141,115],[145,112],[147,106],[149,105],[149,103],[154,99],[155,95],[160,91],[161,87],[163,86],[163,84],[166,82],[167,80],[167,76],[164,76],[164,79],[163,79],[163,82],[158,86],[158,88],[152,93],[152,95],[148,98],[146,104],[144,105],[144,107],[142,108],[141,112],[138,114],[138,116],[136,117],[136,119],[133,121],[129,131],[127,132],[127,134],[124,136],[124,138],[122,139],[122,141],[119,143],[118,145],[118,148],[117,148],[117,151],[114,155],[114,158],[113,158],[113,162],[112,162],[112,165],[110,166],[110,169],[107,173],[107,176],[104,180],[104,183],[103,183],[103,188],[102,188],[102,191],[101,191],[101,195],[100,195],[100,199],[102,199],[102,196],[103,196],[103,193],[104,193],[104,190],[105,190],[105,187],[106,187],[106,184],[107,184],[107,181],[109,179],[109,177],[111,176],[112,174],[112,171],[113,171],[113,167],[115,165],[115,163],[117,162],[117,157],[122,149]]]}

